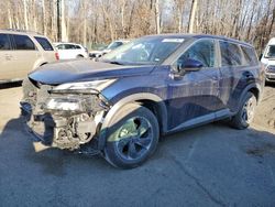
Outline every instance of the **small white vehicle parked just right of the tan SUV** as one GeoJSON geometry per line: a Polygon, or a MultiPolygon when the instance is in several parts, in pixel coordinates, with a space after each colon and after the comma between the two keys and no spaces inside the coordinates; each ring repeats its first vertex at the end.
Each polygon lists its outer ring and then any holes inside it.
{"type": "Polygon", "coordinates": [[[61,59],[88,58],[88,50],[76,43],[54,43],[61,59]]]}

